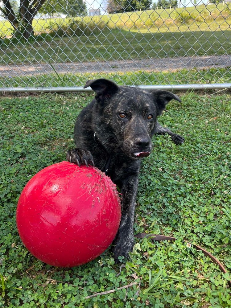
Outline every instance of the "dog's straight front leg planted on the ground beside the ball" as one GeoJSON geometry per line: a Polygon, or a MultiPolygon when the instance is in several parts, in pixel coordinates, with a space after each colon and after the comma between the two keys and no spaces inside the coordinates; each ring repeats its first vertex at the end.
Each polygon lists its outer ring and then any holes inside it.
{"type": "Polygon", "coordinates": [[[118,233],[113,241],[112,252],[115,262],[119,256],[128,257],[134,246],[134,212],[138,187],[138,176],[128,177],[122,185],[122,216],[118,233]]]}

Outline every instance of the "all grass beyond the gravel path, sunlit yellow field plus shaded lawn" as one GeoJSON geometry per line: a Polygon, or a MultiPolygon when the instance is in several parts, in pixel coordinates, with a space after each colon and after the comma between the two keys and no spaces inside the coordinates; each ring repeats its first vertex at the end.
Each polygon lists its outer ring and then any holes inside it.
{"type": "MultiPolygon", "coordinates": [[[[190,19],[187,23],[175,23],[180,12],[194,12],[203,14],[205,6],[189,7],[176,10],[157,10],[134,13],[112,14],[110,19],[106,15],[95,23],[102,21],[104,28],[91,26],[91,35],[51,37],[49,34],[39,36],[34,41],[16,42],[0,41],[2,55],[0,65],[20,63],[48,63],[48,62],[82,62],[94,60],[126,60],[145,59],[146,57],[174,57],[193,55],[223,55],[231,51],[231,17],[228,6],[206,6],[211,17],[203,17],[203,22],[190,19]],[[227,10],[227,16],[220,13],[227,10]],[[149,17],[150,15],[150,17],[149,17]],[[159,17],[158,17],[159,16],[159,17]],[[156,19],[157,18],[157,19],[156,19]]],[[[193,15],[193,16],[194,16],[193,15]]],[[[196,16],[196,15],[195,15],[196,16]]],[[[194,16],[194,18],[195,18],[194,16]]],[[[207,16],[207,15],[206,15],[207,16]]],[[[202,18],[202,17],[200,17],[202,18]]],[[[89,18],[88,18],[89,19],[89,18]]],[[[87,20],[88,20],[87,19],[87,20]]],[[[34,20],[34,29],[39,33],[51,24],[68,23],[67,20],[56,18],[46,21],[34,20]]],[[[89,22],[85,21],[86,23],[89,22]]],[[[6,33],[10,27],[7,22],[0,25],[6,33]]],[[[66,27],[66,26],[65,26],[66,27]]],[[[78,27],[77,27],[78,28],[78,27]]],[[[62,32],[62,31],[61,31],[62,32]]],[[[65,32],[65,31],[64,31],[65,32]]],[[[63,32],[62,32],[63,33],[63,32]]]]}

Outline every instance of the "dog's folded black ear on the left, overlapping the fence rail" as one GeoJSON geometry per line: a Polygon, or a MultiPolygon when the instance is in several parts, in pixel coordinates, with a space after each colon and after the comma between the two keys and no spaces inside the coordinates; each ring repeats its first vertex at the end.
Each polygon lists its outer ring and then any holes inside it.
{"type": "Polygon", "coordinates": [[[118,90],[118,86],[113,81],[104,78],[88,80],[83,88],[85,89],[87,87],[93,89],[96,93],[95,98],[98,101],[104,101],[105,98],[110,98],[118,90]]]}

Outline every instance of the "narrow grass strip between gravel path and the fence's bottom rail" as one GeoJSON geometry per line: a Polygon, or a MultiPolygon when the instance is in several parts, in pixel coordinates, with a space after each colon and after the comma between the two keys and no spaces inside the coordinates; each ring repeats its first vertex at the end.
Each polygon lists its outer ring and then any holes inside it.
{"type": "Polygon", "coordinates": [[[198,84],[198,83],[229,83],[231,72],[227,68],[191,69],[177,72],[118,72],[92,74],[42,74],[24,77],[0,77],[0,84],[8,87],[57,87],[83,86],[88,79],[111,78],[117,83],[128,85],[139,84],[198,84]]]}

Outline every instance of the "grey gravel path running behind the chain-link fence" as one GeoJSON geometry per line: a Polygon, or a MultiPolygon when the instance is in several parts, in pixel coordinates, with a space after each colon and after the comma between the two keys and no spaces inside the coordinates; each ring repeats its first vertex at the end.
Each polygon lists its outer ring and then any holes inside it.
{"type": "MultiPolygon", "coordinates": [[[[174,71],[182,68],[212,68],[231,66],[231,55],[175,57],[163,59],[145,60],[118,60],[118,61],[95,61],[77,63],[52,64],[57,73],[101,73],[101,72],[134,72],[146,71],[174,71]]],[[[0,66],[0,75],[5,77],[29,76],[49,74],[54,72],[50,64],[15,64],[0,66]]]]}

